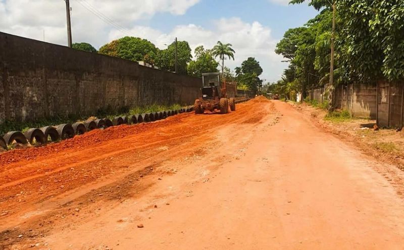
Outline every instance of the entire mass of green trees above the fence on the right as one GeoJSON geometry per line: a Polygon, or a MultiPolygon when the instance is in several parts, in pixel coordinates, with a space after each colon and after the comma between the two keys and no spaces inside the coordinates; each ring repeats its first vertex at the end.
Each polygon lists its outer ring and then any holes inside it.
{"type": "MultiPolygon", "coordinates": [[[[275,52],[289,66],[272,87],[291,95],[324,86],[330,78],[334,34],[334,86],[404,79],[404,2],[401,0],[292,0],[319,11],[303,27],[285,32],[275,52]],[[335,8],[333,8],[333,4],[335,8]],[[335,32],[332,29],[335,10],[335,32]]],[[[332,94],[332,88],[328,94],[332,94]]]]}

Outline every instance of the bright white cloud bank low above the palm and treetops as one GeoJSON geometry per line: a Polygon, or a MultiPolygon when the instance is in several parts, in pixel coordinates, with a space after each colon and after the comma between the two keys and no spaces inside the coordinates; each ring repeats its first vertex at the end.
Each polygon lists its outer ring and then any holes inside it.
{"type": "MultiPolygon", "coordinates": [[[[280,63],[283,60],[282,56],[274,52],[277,40],[272,38],[271,29],[259,22],[246,23],[240,18],[222,18],[214,22],[212,29],[188,24],[176,26],[169,33],[144,26],[133,27],[131,32],[150,40],[170,41],[170,43],[178,37],[180,40],[188,41],[192,50],[199,45],[212,48],[219,40],[231,43],[236,51],[235,60],[226,60],[225,66],[234,69],[248,57],[255,57],[264,69],[261,78],[267,81],[278,80],[286,68],[286,64],[280,63]]],[[[118,31],[111,31],[109,34],[110,40],[120,36],[122,35],[118,31]]],[[[166,47],[162,43],[156,45],[160,48],[166,47]]]]}

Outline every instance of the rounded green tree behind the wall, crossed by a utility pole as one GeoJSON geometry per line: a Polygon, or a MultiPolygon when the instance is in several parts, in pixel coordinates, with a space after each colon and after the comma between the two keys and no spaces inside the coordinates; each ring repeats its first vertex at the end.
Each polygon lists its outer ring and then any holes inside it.
{"type": "MultiPolygon", "coordinates": [[[[177,73],[186,74],[188,63],[192,60],[191,48],[187,41],[178,41],[177,46],[177,73]]],[[[156,66],[162,70],[175,71],[175,42],[158,52],[156,66]]]]}

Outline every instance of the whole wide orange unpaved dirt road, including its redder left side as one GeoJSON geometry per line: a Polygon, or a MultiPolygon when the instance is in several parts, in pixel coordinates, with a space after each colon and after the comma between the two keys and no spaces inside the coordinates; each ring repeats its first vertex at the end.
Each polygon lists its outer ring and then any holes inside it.
{"type": "Polygon", "coordinates": [[[0,249],[403,249],[403,176],[256,98],[0,155],[0,249]]]}

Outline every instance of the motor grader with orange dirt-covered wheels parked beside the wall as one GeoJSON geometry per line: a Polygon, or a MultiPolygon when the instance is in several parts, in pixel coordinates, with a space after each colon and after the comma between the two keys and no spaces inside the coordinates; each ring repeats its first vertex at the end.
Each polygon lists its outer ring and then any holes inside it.
{"type": "Polygon", "coordinates": [[[195,100],[195,114],[204,114],[205,111],[217,112],[220,114],[236,110],[236,103],[233,97],[228,98],[226,82],[220,80],[220,73],[202,74],[202,88],[199,98],[195,100]]]}

